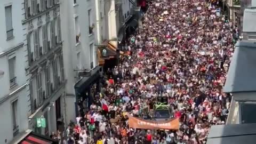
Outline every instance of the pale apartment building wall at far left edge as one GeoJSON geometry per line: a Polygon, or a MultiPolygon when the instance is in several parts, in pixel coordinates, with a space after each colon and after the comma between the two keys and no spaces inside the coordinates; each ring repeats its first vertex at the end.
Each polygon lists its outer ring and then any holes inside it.
{"type": "Polygon", "coordinates": [[[27,130],[26,48],[23,44],[21,2],[0,1],[0,143],[27,130]]]}

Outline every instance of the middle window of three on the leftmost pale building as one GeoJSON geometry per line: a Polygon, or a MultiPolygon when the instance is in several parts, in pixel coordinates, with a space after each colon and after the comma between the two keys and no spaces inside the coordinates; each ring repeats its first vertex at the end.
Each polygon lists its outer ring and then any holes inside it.
{"type": "Polygon", "coordinates": [[[15,86],[16,83],[16,76],[15,76],[15,60],[16,58],[13,57],[8,60],[9,63],[9,77],[10,77],[10,87],[15,86]]]}

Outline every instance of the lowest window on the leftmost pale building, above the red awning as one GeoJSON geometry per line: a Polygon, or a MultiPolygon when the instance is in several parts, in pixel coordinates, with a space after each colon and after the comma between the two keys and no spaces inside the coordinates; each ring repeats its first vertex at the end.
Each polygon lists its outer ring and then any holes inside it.
{"type": "Polygon", "coordinates": [[[13,137],[19,133],[18,125],[18,100],[12,102],[12,125],[13,125],[13,137]]]}

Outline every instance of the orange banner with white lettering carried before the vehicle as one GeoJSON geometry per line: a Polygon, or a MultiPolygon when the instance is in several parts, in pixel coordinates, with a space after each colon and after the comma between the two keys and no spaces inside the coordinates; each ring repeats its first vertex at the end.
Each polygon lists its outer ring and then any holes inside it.
{"type": "Polygon", "coordinates": [[[167,121],[149,121],[137,117],[129,116],[129,127],[134,129],[164,129],[179,130],[179,119],[170,119],[167,121]]]}

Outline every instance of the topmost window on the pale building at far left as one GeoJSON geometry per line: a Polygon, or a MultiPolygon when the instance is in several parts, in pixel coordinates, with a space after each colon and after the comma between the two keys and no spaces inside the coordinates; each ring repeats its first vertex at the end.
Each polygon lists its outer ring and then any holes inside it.
{"type": "Polygon", "coordinates": [[[12,6],[5,7],[5,25],[6,25],[6,38],[10,39],[13,37],[12,27],[12,6]]]}

